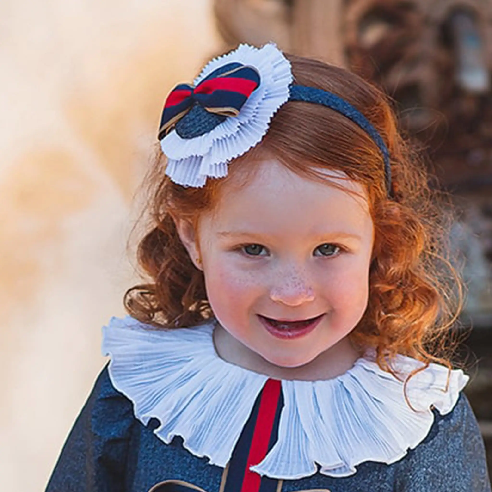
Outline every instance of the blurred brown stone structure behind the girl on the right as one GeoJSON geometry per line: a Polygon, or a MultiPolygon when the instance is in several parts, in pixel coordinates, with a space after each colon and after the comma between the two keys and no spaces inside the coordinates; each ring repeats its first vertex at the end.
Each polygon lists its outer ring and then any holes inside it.
{"type": "Polygon", "coordinates": [[[273,40],[378,85],[426,150],[431,184],[460,210],[466,393],[492,472],[492,0],[215,0],[215,17],[226,47],[273,40]]]}

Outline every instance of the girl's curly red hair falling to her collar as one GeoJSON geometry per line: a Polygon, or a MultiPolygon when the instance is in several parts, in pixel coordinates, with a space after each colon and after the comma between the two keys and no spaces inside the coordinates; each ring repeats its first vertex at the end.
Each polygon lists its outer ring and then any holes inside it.
{"type": "MultiPolygon", "coordinates": [[[[397,353],[451,368],[450,328],[462,307],[460,272],[448,244],[453,212],[447,195],[432,190],[418,154],[400,136],[387,97],[357,75],[323,62],[286,55],[297,84],[338,94],[379,131],[391,154],[394,198],[385,188],[382,155],[368,134],[336,111],[289,101],[273,117],[260,144],[229,164],[229,176],[185,188],[165,176],[160,152],[144,183],[149,230],[138,244],[148,281],[124,295],[128,313],[157,327],[188,327],[213,316],[203,273],[181,243],[172,216],[198,223],[212,210],[230,177],[275,156],[291,171],[320,179],[316,168],[339,170],[362,184],[369,197],[375,240],[369,269],[369,304],[350,334],[353,344],[376,351],[391,369],[397,353]]],[[[245,180],[245,183],[247,180],[245,180]]]]}

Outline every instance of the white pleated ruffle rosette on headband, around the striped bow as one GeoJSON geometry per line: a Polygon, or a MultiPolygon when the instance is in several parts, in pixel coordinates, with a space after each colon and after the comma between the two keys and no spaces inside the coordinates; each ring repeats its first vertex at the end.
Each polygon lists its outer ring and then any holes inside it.
{"type": "MultiPolygon", "coordinates": [[[[166,174],[175,183],[203,186],[207,177],[226,176],[227,162],[261,141],[272,116],[289,97],[290,62],[272,43],[262,48],[242,44],[231,53],[212,60],[194,80],[195,88],[228,63],[253,66],[259,74],[260,85],[251,92],[237,116],[226,117],[221,124],[198,136],[184,138],[177,131],[171,131],[161,140],[162,152],[168,158],[166,174]]],[[[200,126],[209,116],[217,115],[194,105],[176,126],[192,127],[195,120],[196,126],[200,126]]]]}

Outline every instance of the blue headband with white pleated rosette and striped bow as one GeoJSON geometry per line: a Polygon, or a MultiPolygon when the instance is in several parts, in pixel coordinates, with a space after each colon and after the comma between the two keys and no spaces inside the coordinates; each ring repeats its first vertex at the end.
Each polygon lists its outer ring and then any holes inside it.
{"type": "Polygon", "coordinates": [[[261,141],[282,104],[304,101],[327,106],[368,133],[383,156],[392,197],[390,154],[369,120],[340,96],[292,81],[290,62],[274,43],[241,44],[209,62],[194,87],[180,84],[164,104],[158,138],[168,158],[166,175],[193,187],[226,176],[227,163],[261,141]]]}

